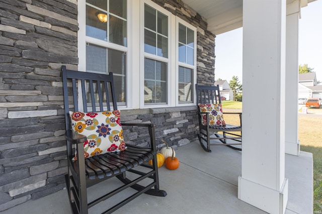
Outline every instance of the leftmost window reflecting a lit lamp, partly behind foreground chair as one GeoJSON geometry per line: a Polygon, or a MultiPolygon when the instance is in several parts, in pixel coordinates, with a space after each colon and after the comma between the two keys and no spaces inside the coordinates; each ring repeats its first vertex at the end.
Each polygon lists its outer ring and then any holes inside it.
{"type": "Polygon", "coordinates": [[[127,1],[86,1],[86,71],[113,72],[118,105],[126,105],[127,1]]]}

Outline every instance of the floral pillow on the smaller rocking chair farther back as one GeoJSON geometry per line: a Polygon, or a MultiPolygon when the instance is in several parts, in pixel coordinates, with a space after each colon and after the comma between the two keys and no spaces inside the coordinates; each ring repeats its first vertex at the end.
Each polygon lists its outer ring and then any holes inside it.
{"type": "MultiPolygon", "coordinates": [[[[223,119],[221,104],[198,104],[200,112],[209,112],[209,125],[211,126],[225,126],[226,123],[223,119]]],[[[207,125],[207,115],[201,115],[201,122],[207,125]]]]}

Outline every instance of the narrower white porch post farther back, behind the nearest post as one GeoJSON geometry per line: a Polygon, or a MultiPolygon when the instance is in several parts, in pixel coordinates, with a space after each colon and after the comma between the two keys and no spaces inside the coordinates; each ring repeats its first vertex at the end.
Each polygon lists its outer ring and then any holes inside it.
{"type": "Polygon", "coordinates": [[[297,136],[298,113],[298,19],[299,0],[286,7],[286,97],[285,107],[285,153],[299,155],[297,136]]]}

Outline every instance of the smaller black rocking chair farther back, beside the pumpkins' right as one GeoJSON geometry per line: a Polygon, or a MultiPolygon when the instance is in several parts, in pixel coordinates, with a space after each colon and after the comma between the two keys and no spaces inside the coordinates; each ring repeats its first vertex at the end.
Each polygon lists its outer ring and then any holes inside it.
{"type": "Polygon", "coordinates": [[[198,105],[198,118],[199,118],[199,142],[202,148],[211,152],[210,146],[212,145],[226,145],[235,150],[241,151],[241,113],[225,112],[224,114],[239,114],[240,125],[215,125],[210,124],[210,112],[201,112],[199,104],[221,104],[219,85],[217,86],[201,86],[196,84],[197,105],[198,105]],[[203,123],[202,120],[206,119],[203,123]],[[222,133],[222,134],[219,134],[222,133]],[[240,133],[240,134],[239,134],[240,133]],[[231,143],[227,140],[234,140],[237,143],[231,143]],[[219,140],[220,142],[214,143],[210,140],[219,140]],[[203,143],[205,141],[206,145],[203,143]]]}

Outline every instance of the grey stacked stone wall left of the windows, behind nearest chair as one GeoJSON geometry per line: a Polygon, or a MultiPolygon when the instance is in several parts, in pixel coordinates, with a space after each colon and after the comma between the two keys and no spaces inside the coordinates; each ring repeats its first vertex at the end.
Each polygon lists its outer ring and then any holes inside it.
{"type": "Polygon", "coordinates": [[[77,69],[77,5],[0,1],[0,22],[1,211],[65,186],[60,67],[77,69]]]}

